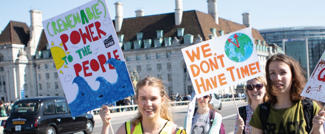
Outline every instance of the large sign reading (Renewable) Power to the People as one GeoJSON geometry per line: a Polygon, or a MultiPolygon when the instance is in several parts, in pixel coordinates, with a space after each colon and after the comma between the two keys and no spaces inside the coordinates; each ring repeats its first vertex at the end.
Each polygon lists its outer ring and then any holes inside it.
{"type": "Polygon", "coordinates": [[[42,23],[72,116],[134,95],[105,0],[42,23]]]}

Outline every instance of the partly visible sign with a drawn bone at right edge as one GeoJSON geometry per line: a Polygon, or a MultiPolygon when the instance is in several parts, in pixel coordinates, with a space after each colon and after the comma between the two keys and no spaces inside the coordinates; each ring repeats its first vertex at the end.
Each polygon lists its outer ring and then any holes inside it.
{"type": "MultiPolygon", "coordinates": [[[[303,77],[303,76],[301,76],[303,77]]],[[[323,94],[325,88],[325,51],[318,61],[301,95],[310,99],[325,102],[323,94]]],[[[325,93],[325,92],[324,92],[325,93]]]]}

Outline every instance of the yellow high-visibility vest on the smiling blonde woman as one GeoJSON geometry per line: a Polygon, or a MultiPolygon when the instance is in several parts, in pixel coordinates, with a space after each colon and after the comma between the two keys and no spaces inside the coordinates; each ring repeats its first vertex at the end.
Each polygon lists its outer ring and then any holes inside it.
{"type": "MultiPolygon", "coordinates": [[[[186,134],[185,129],[181,126],[175,125],[174,127],[174,122],[167,121],[162,130],[159,132],[159,134],[172,134],[172,132],[175,132],[173,134],[186,134]],[[174,127],[174,129],[173,129],[174,127]]],[[[125,128],[126,128],[126,133],[127,134],[143,134],[144,132],[142,131],[142,125],[141,122],[136,124],[136,126],[131,125],[131,121],[126,121],[125,122],[125,128]]]]}

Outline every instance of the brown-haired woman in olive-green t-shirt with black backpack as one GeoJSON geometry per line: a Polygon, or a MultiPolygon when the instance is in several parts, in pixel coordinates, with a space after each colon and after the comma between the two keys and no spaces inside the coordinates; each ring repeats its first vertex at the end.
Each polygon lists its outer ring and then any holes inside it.
{"type": "Polygon", "coordinates": [[[299,62],[284,54],[266,61],[266,92],[269,100],[257,106],[249,123],[253,134],[324,133],[325,111],[316,102],[300,96],[305,75],[299,62]]]}

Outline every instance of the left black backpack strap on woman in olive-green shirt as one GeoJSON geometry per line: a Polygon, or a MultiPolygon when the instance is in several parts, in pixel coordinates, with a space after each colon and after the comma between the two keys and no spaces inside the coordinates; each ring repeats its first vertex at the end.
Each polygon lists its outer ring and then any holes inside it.
{"type": "Polygon", "coordinates": [[[270,107],[271,107],[271,103],[262,103],[260,105],[260,119],[261,119],[261,123],[262,123],[262,126],[263,126],[263,133],[264,134],[267,134],[267,129],[266,129],[266,123],[267,123],[267,119],[268,119],[268,116],[270,114],[270,107]]]}

